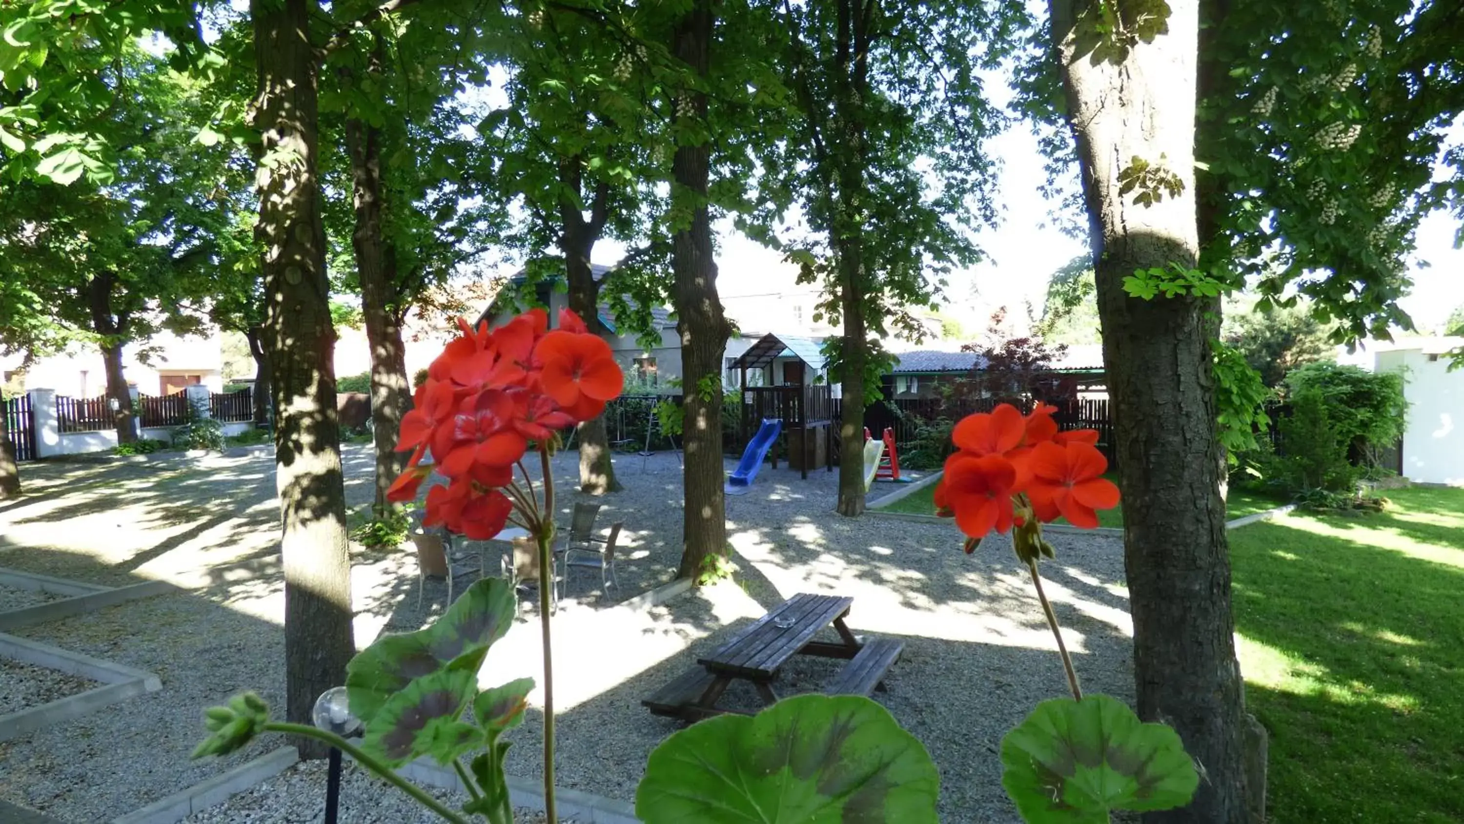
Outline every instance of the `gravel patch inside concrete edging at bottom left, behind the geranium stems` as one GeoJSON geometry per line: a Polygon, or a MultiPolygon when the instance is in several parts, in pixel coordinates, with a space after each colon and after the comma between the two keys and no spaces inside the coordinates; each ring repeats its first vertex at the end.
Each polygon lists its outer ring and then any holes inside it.
{"type": "MultiPolygon", "coordinates": [[[[189,824],[310,824],[325,817],[325,761],[290,767],[258,787],[242,792],[218,806],[184,818],[189,824]]],[[[461,795],[429,789],[441,802],[457,809],[461,795]]],[[[340,821],[344,824],[430,824],[441,821],[410,795],[347,761],[341,768],[340,821]]],[[[542,812],[515,811],[518,824],[543,824],[542,812]]],[[[562,818],[561,821],[571,821],[562,818]]]]}

